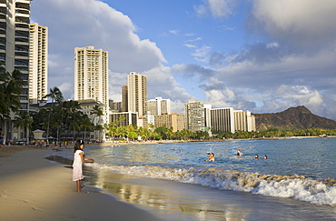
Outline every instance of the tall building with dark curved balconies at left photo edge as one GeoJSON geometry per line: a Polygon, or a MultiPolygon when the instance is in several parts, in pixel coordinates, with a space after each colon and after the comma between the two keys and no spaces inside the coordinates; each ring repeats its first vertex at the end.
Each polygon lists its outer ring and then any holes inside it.
{"type": "MultiPolygon", "coordinates": [[[[29,79],[30,0],[0,0],[0,65],[12,73],[19,70],[29,79]]],[[[29,88],[24,86],[20,108],[27,110],[29,88]]]]}

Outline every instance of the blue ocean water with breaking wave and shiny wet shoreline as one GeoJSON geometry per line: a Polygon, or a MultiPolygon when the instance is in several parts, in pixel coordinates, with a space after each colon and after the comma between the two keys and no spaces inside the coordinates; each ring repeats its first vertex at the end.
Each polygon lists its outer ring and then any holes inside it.
{"type": "Polygon", "coordinates": [[[336,220],[336,137],[104,144],[84,153],[95,159],[87,185],[168,220],[336,220]]]}

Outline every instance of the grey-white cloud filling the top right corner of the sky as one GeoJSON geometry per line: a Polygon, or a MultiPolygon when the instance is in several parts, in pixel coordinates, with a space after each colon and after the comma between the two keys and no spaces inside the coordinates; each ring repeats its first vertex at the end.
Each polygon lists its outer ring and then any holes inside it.
{"type": "Polygon", "coordinates": [[[336,45],[336,1],[254,0],[249,20],[254,30],[265,30],[292,47],[320,50],[336,45]]]}

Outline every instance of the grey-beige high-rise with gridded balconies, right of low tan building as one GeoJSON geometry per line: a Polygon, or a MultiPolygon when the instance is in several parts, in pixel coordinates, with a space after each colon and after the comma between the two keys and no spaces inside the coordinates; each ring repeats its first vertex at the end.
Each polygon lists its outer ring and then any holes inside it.
{"type": "Polygon", "coordinates": [[[203,102],[196,102],[194,99],[188,100],[184,104],[184,128],[196,131],[204,131],[204,105],[203,102]]]}

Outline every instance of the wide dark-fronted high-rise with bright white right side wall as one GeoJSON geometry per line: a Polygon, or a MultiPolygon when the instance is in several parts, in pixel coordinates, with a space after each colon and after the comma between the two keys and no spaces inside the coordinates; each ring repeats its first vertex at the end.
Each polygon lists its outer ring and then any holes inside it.
{"type": "Polygon", "coordinates": [[[214,108],[211,110],[212,131],[228,131],[234,133],[233,108],[214,108]]]}

